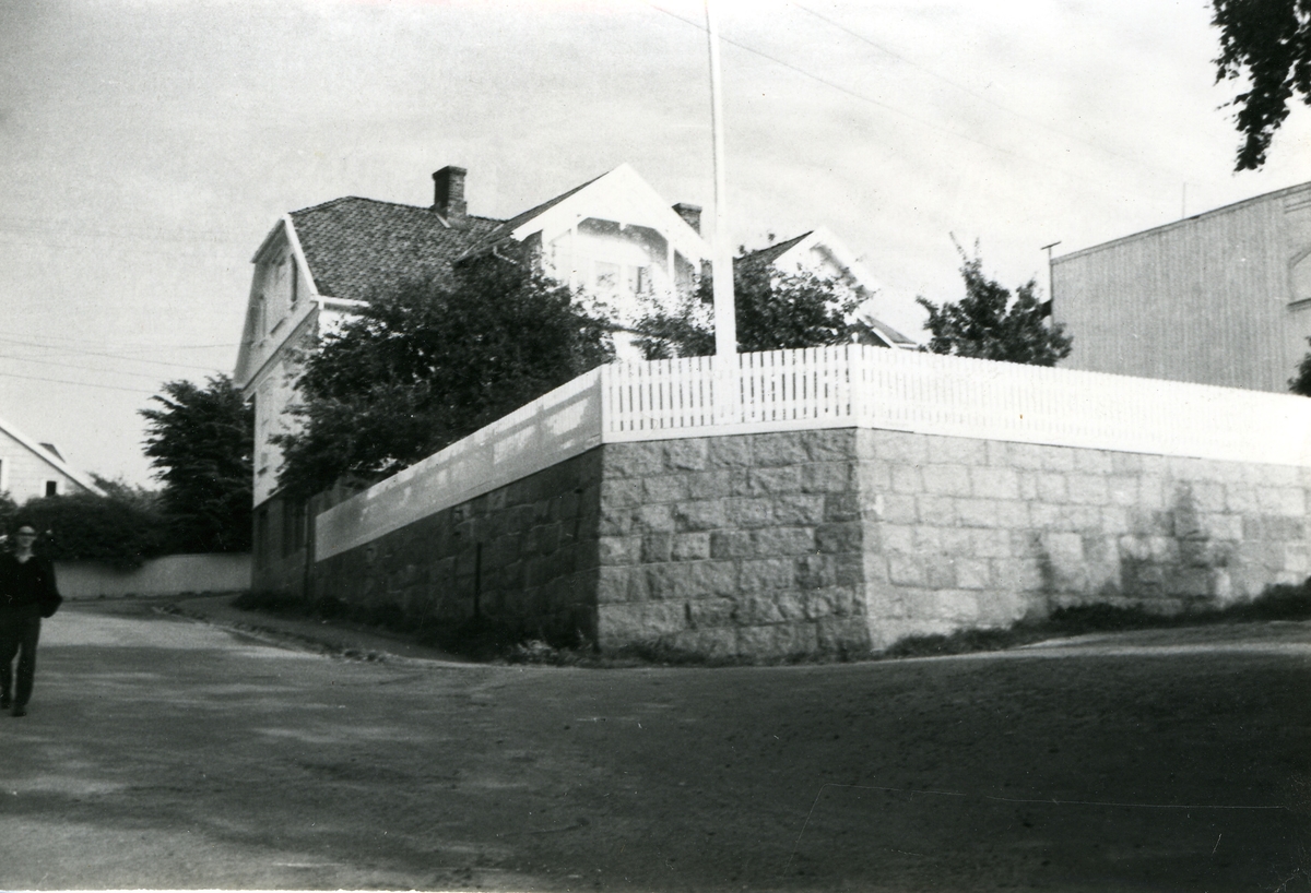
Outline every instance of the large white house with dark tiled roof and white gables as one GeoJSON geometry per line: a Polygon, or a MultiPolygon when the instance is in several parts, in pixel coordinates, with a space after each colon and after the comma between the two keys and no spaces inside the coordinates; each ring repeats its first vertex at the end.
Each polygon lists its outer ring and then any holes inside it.
{"type": "MultiPolygon", "coordinates": [[[[638,359],[631,326],[695,289],[712,257],[700,234],[700,208],[670,206],[628,165],[507,220],[468,212],[463,168],[443,168],[433,181],[430,207],[349,196],[292,211],[252,258],[254,275],[233,378],[256,409],[257,583],[279,585],[279,567],[288,575],[303,567],[305,508],[277,498],[282,457],[271,443],[287,431],[298,355],[374,295],[405,280],[440,276],[465,259],[489,254],[527,259],[600,302],[615,326],[616,354],[638,359]]],[[[825,232],[766,251],[770,263],[809,268],[861,295],[877,289],[850,251],[825,232]]],[[[874,340],[910,343],[886,327],[874,340]]]]}

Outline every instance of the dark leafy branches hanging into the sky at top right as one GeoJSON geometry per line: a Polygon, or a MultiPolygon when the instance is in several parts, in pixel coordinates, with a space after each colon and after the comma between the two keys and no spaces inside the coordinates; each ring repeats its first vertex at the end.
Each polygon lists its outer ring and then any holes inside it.
{"type": "Polygon", "coordinates": [[[1311,0],[1213,0],[1213,9],[1221,30],[1215,81],[1248,80],[1230,103],[1243,135],[1235,169],[1256,170],[1289,117],[1289,101],[1311,105],[1311,0]]]}

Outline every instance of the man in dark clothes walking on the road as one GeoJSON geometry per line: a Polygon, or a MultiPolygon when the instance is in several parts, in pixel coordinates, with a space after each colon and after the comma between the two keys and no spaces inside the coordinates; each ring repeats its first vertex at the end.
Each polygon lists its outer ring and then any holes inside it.
{"type": "Polygon", "coordinates": [[[37,674],[37,639],[41,618],[54,615],[63,597],[55,587],[55,568],[31,550],[37,532],[24,525],[14,533],[14,549],[0,555],[0,710],[13,707],[28,715],[37,674]],[[13,659],[18,657],[18,687],[13,687],[13,659]]]}

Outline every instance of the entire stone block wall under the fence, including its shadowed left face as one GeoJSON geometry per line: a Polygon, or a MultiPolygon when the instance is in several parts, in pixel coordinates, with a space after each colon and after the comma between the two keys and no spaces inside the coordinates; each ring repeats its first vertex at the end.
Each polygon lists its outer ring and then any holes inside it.
{"type": "Polygon", "coordinates": [[[315,591],[604,648],[865,652],[1308,567],[1311,470],[863,428],[603,444],[319,562],[315,591]]]}

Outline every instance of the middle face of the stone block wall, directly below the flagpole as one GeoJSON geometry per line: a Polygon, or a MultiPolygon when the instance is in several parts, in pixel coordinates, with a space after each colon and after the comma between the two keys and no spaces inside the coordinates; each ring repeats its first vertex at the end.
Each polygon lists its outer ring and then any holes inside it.
{"type": "Polygon", "coordinates": [[[868,651],[857,435],[607,444],[600,644],[868,651]]]}

